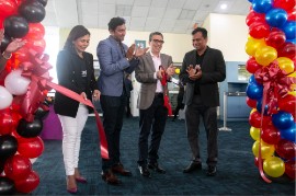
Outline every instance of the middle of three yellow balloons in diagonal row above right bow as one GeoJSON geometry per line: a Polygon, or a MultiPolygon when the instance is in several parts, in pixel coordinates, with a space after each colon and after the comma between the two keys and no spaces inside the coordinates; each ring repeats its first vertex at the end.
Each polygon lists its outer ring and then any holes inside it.
{"type": "Polygon", "coordinates": [[[262,46],[255,51],[255,61],[262,66],[269,66],[277,58],[277,51],[274,47],[262,46]]]}

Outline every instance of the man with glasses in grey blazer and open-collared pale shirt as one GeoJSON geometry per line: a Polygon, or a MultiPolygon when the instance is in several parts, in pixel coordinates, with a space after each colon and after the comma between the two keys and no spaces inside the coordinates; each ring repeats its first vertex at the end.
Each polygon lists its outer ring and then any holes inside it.
{"type": "Polygon", "coordinates": [[[168,108],[164,106],[163,99],[163,95],[168,92],[161,84],[161,80],[162,77],[169,79],[174,73],[174,67],[171,56],[160,54],[163,43],[161,33],[151,33],[149,36],[151,50],[139,58],[139,65],[135,69],[136,79],[140,83],[138,97],[140,127],[138,168],[140,174],[147,177],[150,176],[148,168],[158,173],[166,173],[166,170],[158,164],[158,149],[168,116],[168,108]],[[163,76],[164,72],[167,76],[163,76]],[[148,151],[150,131],[151,142],[148,151]]]}

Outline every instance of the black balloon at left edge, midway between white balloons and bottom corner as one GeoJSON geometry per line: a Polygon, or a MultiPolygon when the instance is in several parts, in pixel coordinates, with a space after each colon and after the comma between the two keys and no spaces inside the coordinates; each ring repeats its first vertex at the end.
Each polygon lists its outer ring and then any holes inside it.
{"type": "Polygon", "coordinates": [[[18,140],[11,135],[0,136],[0,159],[5,160],[18,150],[18,140]]]}

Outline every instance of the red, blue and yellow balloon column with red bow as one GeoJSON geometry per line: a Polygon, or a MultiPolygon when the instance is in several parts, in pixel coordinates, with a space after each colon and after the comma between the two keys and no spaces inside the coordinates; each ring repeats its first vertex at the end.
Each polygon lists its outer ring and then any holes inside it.
{"type": "Polygon", "coordinates": [[[249,123],[255,164],[267,176],[295,180],[295,0],[249,1],[247,104],[253,108],[249,123]]]}

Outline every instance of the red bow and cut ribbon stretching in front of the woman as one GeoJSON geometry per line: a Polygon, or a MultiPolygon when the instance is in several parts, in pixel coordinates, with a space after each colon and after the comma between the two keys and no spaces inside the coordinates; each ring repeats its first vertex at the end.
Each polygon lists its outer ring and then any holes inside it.
{"type": "MultiPolygon", "coordinates": [[[[31,56],[30,61],[23,62],[21,65],[21,67],[23,68],[22,76],[31,78],[27,93],[25,94],[21,106],[21,114],[27,122],[34,120],[35,111],[38,108],[39,104],[45,100],[47,95],[47,93],[44,92],[47,92],[52,89],[55,89],[61,94],[94,108],[90,100],[84,100],[76,92],[52,82],[52,78],[48,73],[48,70],[52,68],[52,66],[47,62],[47,55],[41,55],[33,49],[30,49],[29,53],[31,56]]],[[[95,120],[99,130],[101,157],[103,159],[109,159],[107,142],[104,127],[96,109],[94,108],[93,111],[95,114],[95,120]]]]}

